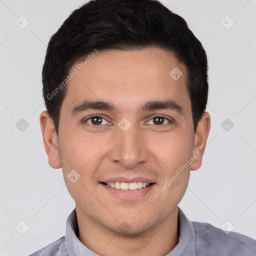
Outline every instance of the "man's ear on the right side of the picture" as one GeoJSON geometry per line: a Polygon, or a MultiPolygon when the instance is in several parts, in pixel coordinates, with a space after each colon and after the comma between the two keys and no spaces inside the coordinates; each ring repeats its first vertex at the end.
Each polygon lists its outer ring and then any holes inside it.
{"type": "Polygon", "coordinates": [[[202,164],[202,155],[204,153],[209,131],[210,115],[208,112],[204,112],[196,127],[196,132],[194,136],[193,155],[197,155],[197,158],[192,162],[190,166],[191,170],[197,170],[198,168],[200,168],[202,164]]]}

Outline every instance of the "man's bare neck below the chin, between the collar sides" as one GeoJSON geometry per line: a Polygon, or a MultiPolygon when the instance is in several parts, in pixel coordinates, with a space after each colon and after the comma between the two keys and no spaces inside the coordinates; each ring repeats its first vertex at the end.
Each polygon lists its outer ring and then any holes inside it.
{"type": "Polygon", "coordinates": [[[128,256],[131,254],[166,255],[178,243],[177,208],[161,223],[133,235],[112,232],[76,208],[79,228],[78,239],[90,250],[102,256],[128,256]]]}

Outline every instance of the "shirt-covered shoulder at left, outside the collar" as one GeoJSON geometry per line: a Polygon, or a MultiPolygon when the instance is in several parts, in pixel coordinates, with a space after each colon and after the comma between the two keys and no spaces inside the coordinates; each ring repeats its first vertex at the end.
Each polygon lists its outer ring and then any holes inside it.
{"type": "Polygon", "coordinates": [[[65,235],[60,237],[58,240],[48,244],[47,246],[41,248],[40,250],[35,251],[29,256],[64,256],[64,244],[65,244],[65,235]]]}

